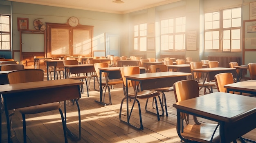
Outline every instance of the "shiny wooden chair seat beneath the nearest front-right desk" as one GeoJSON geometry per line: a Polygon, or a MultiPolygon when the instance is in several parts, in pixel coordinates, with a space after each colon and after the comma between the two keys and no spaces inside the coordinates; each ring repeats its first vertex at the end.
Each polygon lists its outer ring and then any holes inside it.
{"type": "MultiPolygon", "coordinates": [[[[184,132],[181,135],[185,139],[191,139],[194,141],[199,141],[200,143],[209,143],[211,141],[211,136],[216,129],[217,124],[212,123],[202,123],[200,125],[191,125],[188,124],[184,127],[184,132]]],[[[213,143],[220,142],[220,129],[216,130],[213,136],[213,143]]]]}

